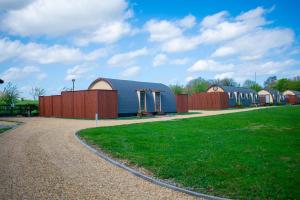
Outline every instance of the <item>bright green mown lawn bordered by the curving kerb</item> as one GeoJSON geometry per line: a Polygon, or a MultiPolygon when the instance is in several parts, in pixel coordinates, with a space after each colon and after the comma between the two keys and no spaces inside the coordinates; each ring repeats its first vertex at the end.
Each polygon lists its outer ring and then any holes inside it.
{"type": "Polygon", "coordinates": [[[300,199],[300,106],[91,128],[80,136],[154,176],[235,199],[300,199]]]}

